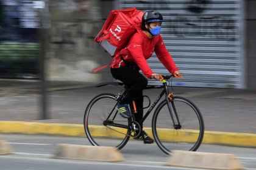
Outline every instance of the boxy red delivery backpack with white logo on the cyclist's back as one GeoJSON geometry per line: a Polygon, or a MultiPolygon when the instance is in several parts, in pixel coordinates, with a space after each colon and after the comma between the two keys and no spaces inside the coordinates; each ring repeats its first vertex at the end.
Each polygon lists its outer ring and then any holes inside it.
{"type": "Polygon", "coordinates": [[[112,57],[123,49],[133,33],[140,28],[144,12],[135,7],[112,10],[94,41],[98,42],[112,57]]]}

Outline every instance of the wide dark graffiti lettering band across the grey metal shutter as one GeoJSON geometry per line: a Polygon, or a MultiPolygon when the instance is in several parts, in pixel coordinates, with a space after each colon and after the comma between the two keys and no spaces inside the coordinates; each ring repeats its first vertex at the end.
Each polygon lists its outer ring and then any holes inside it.
{"type": "Polygon", "coordinates": [[[171,30],[178,37],[207,37],[235,41],[235,21],[225,16],[187,18],[176,16],[171,19],[171,30]]]}

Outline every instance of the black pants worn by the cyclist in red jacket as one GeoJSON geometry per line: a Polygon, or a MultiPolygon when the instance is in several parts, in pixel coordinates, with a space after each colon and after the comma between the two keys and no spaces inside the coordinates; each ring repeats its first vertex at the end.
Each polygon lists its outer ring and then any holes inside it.
{"type": "MultiPolygon", "coordinates": [[[[137,113],[134,114],[138,123],[143,118],[143,89],[148,85],[148,80],[138,71],[131,67],[123,66],[117,69],[110,69],[113,78],[122,81],[129,88],[126,96],[121,100],[122,104],[129,104],[135,101],[137,113]]],[[[143,124],[140,124],[143,127],[143,124]]]]}

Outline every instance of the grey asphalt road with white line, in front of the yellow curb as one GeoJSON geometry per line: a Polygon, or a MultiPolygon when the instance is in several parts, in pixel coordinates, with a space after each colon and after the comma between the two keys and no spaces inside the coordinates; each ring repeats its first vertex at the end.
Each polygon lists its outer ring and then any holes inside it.
{"type": "MultiPolygon", "coordinates": [[[[141,141],[129,141],[121,150],[124,161],[107,163],[53,158],[56,144],[90,145],[87,138],[0,134],[0,140],[8,141],[14,150],[14,154],[0,155],[0,169],[186,169],[165,166],[169,156],[160,151],[156,144],[143,144],[141,141]]],[[[202,144],[197,151],[235,154],[246,169],[256,169],[256,149],[202,144]]]]}

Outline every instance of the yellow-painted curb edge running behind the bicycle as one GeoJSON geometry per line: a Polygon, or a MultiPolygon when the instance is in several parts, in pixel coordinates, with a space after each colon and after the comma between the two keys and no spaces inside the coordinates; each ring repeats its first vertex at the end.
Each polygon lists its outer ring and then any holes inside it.
{"type": "MultiPolygon", "coordinates": [[[[104,126],[96,126],[94,132],[102,137],[106,132],[104,129],[104,126]]],[[[152,136],[151,127],[144,127],[144,131],[152,136]]],[[[165,132],[166,129],[161,129],[158,135],[165,134],[165,132]]],[[[82,124],[37,123],[28,121],[0,121],[0,133],[86,137],[82,124]]],[[[193,140],[194,131],[188,130],[182,131],[182,133],[184,133],[186,141],[193,140]]],[[[118,137],[116,133],[115,137],[118,137]]],[[[171,141],[172,139],[167,136],[165,140],[171,141]]],[[[256,134],[205,131],[202,143],[254,148],[256,147],[256,134]]]]}

